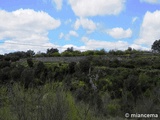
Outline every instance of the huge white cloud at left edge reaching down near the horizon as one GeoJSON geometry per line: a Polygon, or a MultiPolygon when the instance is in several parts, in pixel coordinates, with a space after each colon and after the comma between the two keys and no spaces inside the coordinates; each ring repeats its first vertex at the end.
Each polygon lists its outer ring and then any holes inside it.
{"type": "Polygon", "coordinates": [[[13,12],[0,10],[0,16],[0,40],[4,40],[0,48],[7,52],[41,50],[41,47],[34,45],[49,44],[48,31],[56,29],[61,24],[60,20],[52,18],[47,13],[31,9],[19,9],[13,12]]]}

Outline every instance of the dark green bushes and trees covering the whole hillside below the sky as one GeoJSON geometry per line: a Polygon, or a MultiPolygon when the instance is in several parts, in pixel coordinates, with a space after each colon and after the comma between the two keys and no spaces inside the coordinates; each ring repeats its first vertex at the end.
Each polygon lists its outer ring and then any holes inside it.
{"type": "MultiPolygon", "coordinates": [[[[55,53],[48,49],[43,56],[55,53]]],[[[131,48],[58,54],[87,57],[48,63],[33,60],[31,50],[0,56],[1,120],[123,120],[125,113],[160,113],[159,54],[131,48]]]]}

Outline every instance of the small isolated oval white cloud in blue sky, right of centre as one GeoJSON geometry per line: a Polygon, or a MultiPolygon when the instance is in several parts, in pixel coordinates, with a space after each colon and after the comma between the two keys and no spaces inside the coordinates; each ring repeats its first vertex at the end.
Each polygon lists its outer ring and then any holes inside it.
{"type": "Polygon", "coordinates": [[[129,38],[132,36],[132,30],[129,28],[127,30],[124,30],[123,28],[117,27],[107,30],[107,34],[115,39],[129,38]]]}

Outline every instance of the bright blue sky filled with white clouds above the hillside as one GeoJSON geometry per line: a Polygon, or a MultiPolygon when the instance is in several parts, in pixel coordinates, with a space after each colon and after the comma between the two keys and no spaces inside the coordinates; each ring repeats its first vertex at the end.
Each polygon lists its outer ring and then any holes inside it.
{"type": "Polygon", "coordinates": [[[0,0],[0,54],[150,50],[159,39],[160,0],[0,0]]]}

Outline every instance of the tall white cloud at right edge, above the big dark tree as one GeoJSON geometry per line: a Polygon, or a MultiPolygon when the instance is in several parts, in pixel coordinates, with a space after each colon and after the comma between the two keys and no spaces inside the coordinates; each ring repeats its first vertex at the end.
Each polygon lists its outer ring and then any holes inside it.
{"type": "Polygon", "coordinates": [[[144,44],[151,47],[155,40],[160,39],[160,11],[146,12],[136,44],[144,44]]]}

